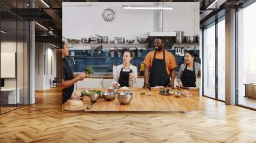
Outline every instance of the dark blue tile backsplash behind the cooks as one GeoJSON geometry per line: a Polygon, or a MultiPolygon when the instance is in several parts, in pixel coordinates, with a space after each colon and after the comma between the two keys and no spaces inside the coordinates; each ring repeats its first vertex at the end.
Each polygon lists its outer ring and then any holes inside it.
{"type": "MultiPolygon", "coordinates": [[[[99,56],[96,54],[88,54],[88,50],[69,50],[71,52],[75,52],[74,59],[73,57],[66,57],[68,63],[70,64],[72,70],[74,72],[83,72],[86,66],[92,66],[95,72],[109,72],[113,71],[113,65],[118,65],[123,63],[123,57],[118,57],[115,52],[115,57],[111,57],[110,52],[100,52],[99,56]],[[84,56],[84,52],[85,55],[84,56]]],[[[152,50],[142,50],[141,57],[138,57],[137,53],[135,52],[135,56],[132,59],[131,63],[134,66],[137,66],[138,72],[140,71],[140,63],[143,62],[144,57],[152,50]]],[[[176,62],[178,64],[176,71],[179,71],[179,66],[184,62],[184,57],[175,55],[175,50],[168,50],[172,52],[173,56],[175,56],[176,62]]],[[[199,55],[199,50],[195,50],[196,54],[199,55]]],[[[123,52],[122,52],[123,54],[123,52]]],[[[69,54],[71,55],[71,54],[69,54]]],[[[200,59],[196,58],[195,60],[198,63],[200,59]]]]}

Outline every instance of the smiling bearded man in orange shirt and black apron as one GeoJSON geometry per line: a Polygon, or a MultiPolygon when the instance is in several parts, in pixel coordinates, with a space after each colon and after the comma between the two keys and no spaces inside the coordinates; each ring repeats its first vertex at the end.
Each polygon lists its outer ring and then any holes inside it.
{"type": "Polygon", "coordinates": [[[171,52],[164,50],[164,40],[161,37],[155,39],[154,49],[148,52],[143,61],[145,65],[144,87],[170,86],[174,88],[175,68],[177,67],[175,57],[171,52]]]}

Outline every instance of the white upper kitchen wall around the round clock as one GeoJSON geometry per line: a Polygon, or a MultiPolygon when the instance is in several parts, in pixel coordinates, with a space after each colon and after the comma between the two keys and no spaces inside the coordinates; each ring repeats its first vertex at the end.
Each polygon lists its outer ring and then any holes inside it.
{"type": "MultiPolygon", "coordinates": [[[[125,37],[125,39],[136,39],[136,36],[147,36],[148,32],[157,31],[157,10],[123,10],[123,4],[157,5],[158,3],[95,2],[92,3],[93,6],[86,7],[63,6],[63,36],[81,39],[95,36],[94,34],[101,34],[109,36],[109,38],[120,36],[125,37]],[[116,17],[111,22],[105,22],[102,19],[102,11],[106,8],[111,8],[115,11],[116,17]]],[[[198,2],[164,2],[164,5],[173,6],[173,10],[164,10],[164,31],[185,31],[185,35],[196,35],[200,33],[198,2]]]]}

